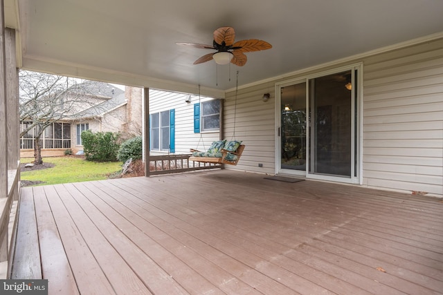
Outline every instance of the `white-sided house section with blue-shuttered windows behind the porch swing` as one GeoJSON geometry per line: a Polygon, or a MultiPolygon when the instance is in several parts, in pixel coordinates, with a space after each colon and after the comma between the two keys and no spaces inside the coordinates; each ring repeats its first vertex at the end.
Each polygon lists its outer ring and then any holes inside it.
{"type": "Polygon", "coordinates": [[[150,89],[150,151],[190,153],[220,138],[222,100],[150,89]]]}

